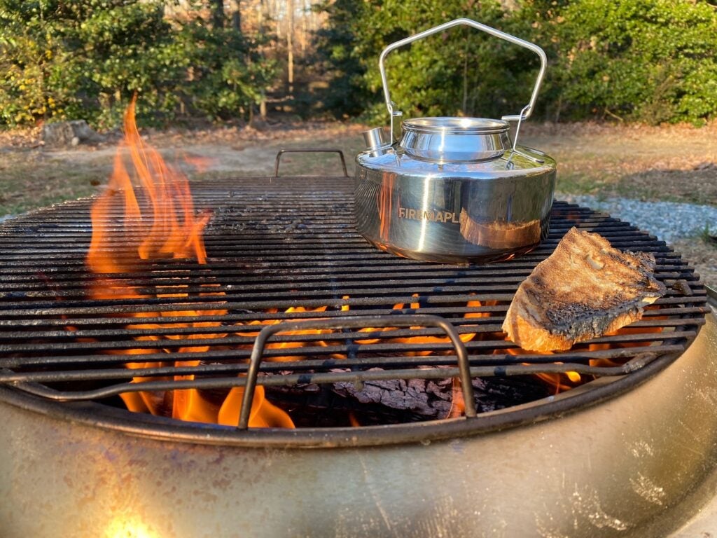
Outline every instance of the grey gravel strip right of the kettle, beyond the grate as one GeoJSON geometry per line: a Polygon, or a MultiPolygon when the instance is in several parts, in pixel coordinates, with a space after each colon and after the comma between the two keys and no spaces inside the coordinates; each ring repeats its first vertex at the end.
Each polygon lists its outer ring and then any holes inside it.
{"type": "Polygon", "coordinates": [[[628,198],[606,198],[592,195],[559,195],[567,202],[599,209],[612,217],[625,220],[671,243],[685,237],[695,237],[708,226],[717,232],[717,207],[681,204],[677,202],[640,202],[628,198]]]}

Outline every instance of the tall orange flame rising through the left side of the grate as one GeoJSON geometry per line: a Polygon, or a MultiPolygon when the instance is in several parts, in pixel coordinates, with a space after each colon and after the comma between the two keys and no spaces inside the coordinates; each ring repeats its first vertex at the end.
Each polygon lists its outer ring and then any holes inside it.
{"type": "MultiPolygon", "coordinates": [[[[194,258],[200,264],[206,263],[206,250],[202,232],[209,222],[209,214],[196,215],[191,197],[189,180],[180,171],[168,166],[156,149],[142,140],[135,123],[135,101],[130,104],[124,118],[125,138],[115,155],[115,168],[108,188],[98,197],[90,210],[92,218],[92,240],[87,253],[87,267],[93,273],[104,275],[92,287],[95,298],[147,298],[119,280],[110,278],[109,273],[125,273],[136,270],[143,261],[150,262],[164,258],[194,258]],[[133,165],[128,171],[125,154],[133,165]],[[136,187],[137,186],[137,187],[136,187]],[[120,207],[122,209],[120,209],[120,207]],[[120,209],[121,214],[115,214],[120,209]]],[[[204,285],[212,288],[212,285],[204,285]]],[[[188,298],[182,285],[172,286],[176,293],[156,293],[158,298],[188,298]]],[[[200,293],[199,296],[222,296],[221,292],[200,293]]],[[[157,313],[136,313],[137,318],[221,315],[226,311],[164,311],[157,313]]],[[[181,327],[219,327],[218,321],[187,321],[174,324],[130,324],[128,329],[173,329],[181,327]]],[[[136,341],[160,341],[161,339],[197,340],[196,346],[181,347],[181,352],[206,351],[201,339],[214,339],[224,334],[192,334],[190,336],[136,336],[136,341]]],[[[153,349],[113,351],[127,355],[148,354],[153,349]]],[[[169,349],[164,351],[170,352],[169,349]]],[[[130,362],[128,368],[166,367],[171,362],[130,362]]],[[[197,366],[199,361],[177,361],[175,367],[197,366]]],[[[148,381],[149,377],[134,377],[133,382],[148,381]]],[[[164,377],[162,379],[169,379],[164,377]]],[[[194,379],[194,375],[174,376],[175,380],[194,379]]],[[[120,395],[128,409],[134,412],[150,412],[153,415],[168,415],[180,420],[204,423],[236,425],[239,420],[244,389],[229,390],[223,402],[212,402],[196,389],[170,392],[127,392],[120,395]]],[[[284,411],[272,405],[265,398],[264,387],[257,386],[249,422],[252,428],[293,428],[293,423],[284,411]]]]}

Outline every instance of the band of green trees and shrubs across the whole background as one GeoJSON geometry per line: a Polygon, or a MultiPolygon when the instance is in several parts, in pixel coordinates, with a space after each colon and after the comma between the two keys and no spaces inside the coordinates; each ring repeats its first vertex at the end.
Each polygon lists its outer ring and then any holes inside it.
{"type": "MultiPolygon", "coordinates": [[[[143,125],[376,121],[387,44],[467,16],[539,44],[534,117],[717,118],[717,0],[0,0],[0,127],[85,119],[143,125]]],[[[518,113],[533,53],[468,28],[391,53],[404,115],[518,113]]]]}

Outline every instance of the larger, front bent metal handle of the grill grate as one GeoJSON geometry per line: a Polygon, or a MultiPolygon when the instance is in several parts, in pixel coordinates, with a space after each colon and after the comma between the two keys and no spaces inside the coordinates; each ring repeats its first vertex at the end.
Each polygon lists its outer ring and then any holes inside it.
{"type": "Polygon", "coordinates": [[[249,428],[249,417],[252,412],[252,402],[254,400],[254,392],[257,387],[257,377],[259,375],[259,367],[263,360],[263,351],[267,340],[274,334],[283,331],[301,331],[305,329],[364,329],[366,327],[437,327],[442,329],[453,344],[455,354],[458,357],[458,370],[460,373],[460,384],[463,391],[463,400],[465,402],[465,416],[475,417],[478,413],[475,410],[475,397],[473,395],[473,384],[470,381],[470,364],[468,362],[468,352],[463,345],[460,336],[447,320],[439,316],[425,315],[409,315],[402,314],[398,316],[356,316],[356,317],[339,317],[333,319],[319,319],[310,321],[287,321],[276,325],[266,326],[260,331],[254,341],[252,355],[250,358],[249,371],[247,372],[247,382],[244,386],[244,399],[242,400],[242,409],[239,412],[239,430],[249,428]]]}

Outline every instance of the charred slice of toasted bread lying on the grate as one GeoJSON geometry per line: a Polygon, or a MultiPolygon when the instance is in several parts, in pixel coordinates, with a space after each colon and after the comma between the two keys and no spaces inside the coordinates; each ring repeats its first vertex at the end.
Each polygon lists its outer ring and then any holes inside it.
{"type": "Polygon", "coordinates": [[[528,351],[570,349],[642,318],[665,293],[654,272],[652,255],[572,228],[518,287],[503,331],[528,351]]]}

